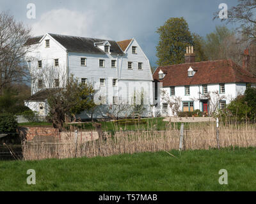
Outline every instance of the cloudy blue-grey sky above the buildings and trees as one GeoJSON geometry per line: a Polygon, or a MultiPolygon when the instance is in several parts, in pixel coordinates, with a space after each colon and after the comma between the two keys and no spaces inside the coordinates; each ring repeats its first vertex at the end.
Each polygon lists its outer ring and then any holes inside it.
{"type": "Polygon", "coordinates": [[[135,38],[151,66],[156,66],[158,27],[168,18],[184,17],[191,33],[205,36],[216,25],[226,25],[220,19],[212,20],[221,3],[231,8],[237,0],[0,0],[0,11],[8,11],[15,20],[31,27],[34,36],[56,33],[115,41],[135,38]],[[27,16],[31,3],[35,4],[35,18],[27,16]]]}

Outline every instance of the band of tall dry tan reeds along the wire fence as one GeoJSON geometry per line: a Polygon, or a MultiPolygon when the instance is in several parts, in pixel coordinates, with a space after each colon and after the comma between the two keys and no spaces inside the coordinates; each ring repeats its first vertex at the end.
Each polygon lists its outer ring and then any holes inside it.
{"type": "MultiPolygon", "coordinates": [[[[220,147],[256,147],[255,124],[225,124],[220,126],[220,147]]],[[[111,156],[136,152],[157,152],[179,149],[180,131],[176,126],[164,131],[147,128],[145,131],[119,131],[113,136],[83,143],[74,140],[57,143],[23,144],[25,160],[70,157],[111,156]]],[[[184,149],[216,148],[214,122],[189,125],[184,130],[184,149]]]]}

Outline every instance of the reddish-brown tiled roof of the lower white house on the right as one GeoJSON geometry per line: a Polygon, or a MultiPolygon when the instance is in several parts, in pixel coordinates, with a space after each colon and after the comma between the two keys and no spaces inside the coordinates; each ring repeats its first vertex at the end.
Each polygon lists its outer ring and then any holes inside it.
{"type": "Polygon", "coordinates": [[[204,61],[170,66],[160,66],[154,71],[155,82],[163,82],[163,87],[175,85],[199,85],[219,84],[229,82],[256,83],[256,77],[238,66],[231,60],[204,61]],[[191,66],[196,73],[188,77],[188,68],[191,66]],[[166,73],[163,79],[159,79],[158,72],[166,73]]]}

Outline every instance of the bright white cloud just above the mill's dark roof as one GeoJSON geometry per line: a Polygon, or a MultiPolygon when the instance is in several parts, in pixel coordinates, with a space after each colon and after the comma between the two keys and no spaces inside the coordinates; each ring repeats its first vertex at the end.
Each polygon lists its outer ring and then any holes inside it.
{"type": "Polygon", "coordinates": [[[107,37],[104,33],[97,31],[94,11],[81,13],[65,8],[47,11],[43,13],[40,20],[32,24],[31,27],[32,33],[35,35],[56,33],[94,38],[107,37]]]}

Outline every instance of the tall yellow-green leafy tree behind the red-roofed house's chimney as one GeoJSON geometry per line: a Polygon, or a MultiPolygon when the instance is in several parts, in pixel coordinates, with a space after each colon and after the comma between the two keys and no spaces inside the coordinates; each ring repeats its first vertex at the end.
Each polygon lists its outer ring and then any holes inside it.
{"type": "Polygon", "coordinates": [[[183,17],[169,18],[156,33],[159,34],[157,65],[184,63],[186,47],[194,45],[186,20],[183,17]]]}

